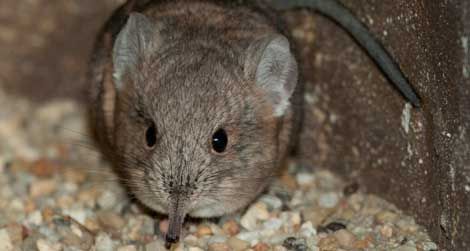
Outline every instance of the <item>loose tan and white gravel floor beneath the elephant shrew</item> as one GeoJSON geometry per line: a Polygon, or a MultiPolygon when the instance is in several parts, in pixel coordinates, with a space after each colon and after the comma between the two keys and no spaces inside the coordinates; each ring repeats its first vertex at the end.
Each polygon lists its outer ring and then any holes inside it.
{"type": "MultiPolygon", "coordinates": [[[[0,93],[0,250],[164,250],[164,216],[126,195],[71,102],[0,93]]],[[[437,250],[395,206],[328,171],[288,170],[246,211],[190,220],[172,250],[437,250]]]]}

